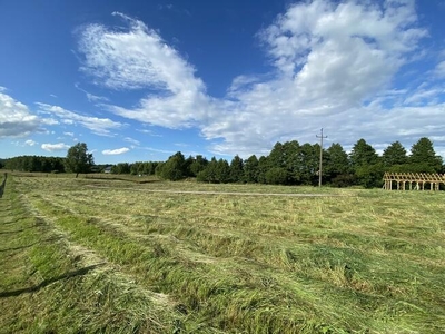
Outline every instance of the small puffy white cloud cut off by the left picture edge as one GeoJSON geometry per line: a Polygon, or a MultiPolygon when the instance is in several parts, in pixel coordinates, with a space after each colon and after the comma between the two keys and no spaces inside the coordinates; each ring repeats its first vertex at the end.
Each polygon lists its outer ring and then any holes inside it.
{"type": "Polygon", "coordinates": [[[28,136],[38,130],[39,124],[26,105],[0,92],[0,138],[28,136]]]}

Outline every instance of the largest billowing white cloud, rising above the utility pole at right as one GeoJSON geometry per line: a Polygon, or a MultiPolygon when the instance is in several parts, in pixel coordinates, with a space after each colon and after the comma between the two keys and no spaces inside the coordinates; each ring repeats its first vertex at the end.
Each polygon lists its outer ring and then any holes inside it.
{"type": "Polygon", "coordinates": [[[263,30],[277,75],[247,87],[233,84],[235,102],[202,127],[206,138],[222,138],[214,150],[263,154],[277,140],[314,143],[322,127],[347,144],[365,136],[368,125],[373,137],[386,136],[378,126],[385,116],[397,116],[403,125],[404,109],[385,110],[380,104],[368,109],[365,102],[390,88],[427,32],[416,28],[413,1],[370,3],[298,2],[263,30]]]}

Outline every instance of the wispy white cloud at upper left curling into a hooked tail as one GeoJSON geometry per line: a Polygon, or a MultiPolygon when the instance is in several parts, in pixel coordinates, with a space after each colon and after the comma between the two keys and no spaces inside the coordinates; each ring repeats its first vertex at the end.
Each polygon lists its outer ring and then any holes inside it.
{"type": "Polygon", "coordinates": [[[115,13],[129,22],[128,31],[91,24],[81,32],[81,70],[95,82],[112,89],[146,88],[148,95],[135,109],[106,106],[108,110],[142,122],[169,128],[197,125],[207,115],[208,97],[195,69],[144,22],[115,13]]]}

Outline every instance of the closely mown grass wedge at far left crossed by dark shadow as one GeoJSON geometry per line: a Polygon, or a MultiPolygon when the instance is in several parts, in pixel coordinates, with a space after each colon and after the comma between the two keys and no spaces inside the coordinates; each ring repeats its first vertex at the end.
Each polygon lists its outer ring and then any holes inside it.
{"type": "MultiPolygon", "coordinates": [[[[0,333],[166,333],[167,298],[72,243],[8,179],[0,202],[0,333]]],[[[177,315],[176,318],[180,320],[177,315]]]]}

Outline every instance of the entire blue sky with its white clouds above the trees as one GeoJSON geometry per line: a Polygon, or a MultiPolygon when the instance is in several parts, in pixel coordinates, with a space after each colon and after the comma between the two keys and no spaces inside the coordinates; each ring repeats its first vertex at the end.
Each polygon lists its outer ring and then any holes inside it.
{"type": "Polygon", "coordinates": [[[445,157],[445,0],[0,2],[0,157],[98,164],[276,141],[445,157]]]}

